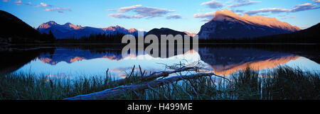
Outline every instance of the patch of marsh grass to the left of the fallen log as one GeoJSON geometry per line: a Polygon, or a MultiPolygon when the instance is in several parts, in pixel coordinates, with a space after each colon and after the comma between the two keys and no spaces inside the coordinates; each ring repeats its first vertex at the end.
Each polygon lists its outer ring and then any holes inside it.
{"type": "Polygon", "coordinates": [[[62,79],[34,74],[2,74],[0,76],[0,99],[62,99],[79,94],[113,88],[112,77],[85,76],[62,79]]]}

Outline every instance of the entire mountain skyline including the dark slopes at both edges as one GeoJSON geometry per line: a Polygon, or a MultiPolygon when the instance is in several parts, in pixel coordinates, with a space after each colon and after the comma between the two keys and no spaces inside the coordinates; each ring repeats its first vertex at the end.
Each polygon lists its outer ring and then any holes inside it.
{"type": "MultiPolygon", "coordinates": [[[[117,33],[137,35],[139,30],[135,28],[126,29],[119,25],[110,26],[107,28],[93,28],[89,26],[82,27],[81,25],[74,25],[72,23],[65,23],[60,25],[55,21],[48,21],[42,23],[36,28],[32,28],[27,23],[24,23],[16,16],[13,16],[6,11],[0,11],[1,19],[1,34],[0,42],[39,42],[48,39],[53,40],[53,36],[57,39],[63,38],[82,38],[90,35],[105,34],[114,35],[117,33]],[[19,32],[17,32],[19,30],[19,32]],[[43,35],[43,33],[52,35],[43,35]],[[42,33],[42,35],[41,35],[42,33]],[[52,37],[51,37],[52,36],[52,37]]],[[[311,28],[300,30],[297,26],[290,25],[289,23],[278,21],[277,18],[268,18],[264,16],[248,16],[244,14],[239,16],[232,11],[216,11],[215,16],[201,26],[201,30],[197,34],[199,39],[212,40],[212,39],[242,39],[242,38],[255,38],[259,39],[286,39],[286,40],[302,40],[306,37],[309,42],[318,42],[316,38],[319,36],[319,24],[311,28]],[[291,38],[291,39],[290,39],[291,38]],[[294,39],[292,39],[294,38],[294,39]]],[[[148,33],[142,31],[144,35],[154,34],[158,37],[160,35],[190,35],[194,36],[196,33],[188,33],[186,31],[177,31],[170,28],[154,28],[148,33]]],[[[304,39],[304,40],[303,40],[304,39]]]]}

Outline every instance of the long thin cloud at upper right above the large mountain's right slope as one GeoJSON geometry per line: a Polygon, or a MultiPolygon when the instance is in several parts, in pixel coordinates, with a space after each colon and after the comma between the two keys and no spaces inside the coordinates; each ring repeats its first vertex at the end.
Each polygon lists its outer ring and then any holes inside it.
{"type": "Polygon", "coordinates": [[[248,15],[254,15],[257,13],[282,13],[282,12],[298,12],[298,11],[306,11],[306,10],[311,10],[311,9],[316,9],[319,8],[316,6],[316,4],[299,4],[297,6],[294,6],[292,9],[287,9],[287,8],[260,8],[258,10],[253,10],[253,11],[247,11],[246,13],[248,15]]]}

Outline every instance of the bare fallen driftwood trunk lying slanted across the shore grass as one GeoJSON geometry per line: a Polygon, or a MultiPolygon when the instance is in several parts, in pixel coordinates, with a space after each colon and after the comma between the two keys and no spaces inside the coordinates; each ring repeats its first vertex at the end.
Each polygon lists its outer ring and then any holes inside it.
{"type": "MultiPolygon", "coordinates": [[[[187,69],[187,67],[186,67],[187,69]]],[[[154,75],[154,76],[160,76],[160,75],[154,75]]],[[[89,93],[85,95],[79,95],[74,96],[71,98],[64,98],[63,100],[99,100],[99,99],[107,99],[112,97],[117,97],[122,95],[126,92],[132,92],[132,91],[142,91],[144,89],[149,89],[150,87],[159,87],[164,84],[169,84],[174,81],[180,81],[183,79],[195,79],[201,76],[218,76],[214,73],[199,73],[199,74],[190,74],[190,75],[182,75],[182,76],[173,76],[166,79],[158,79],[154,81],[148,81],[142,84],[136,84],[136,85],[129,85],[129,86],[117,86],[112,89],[106,89],[104,91],[98,91],[95,93],[89,93]]],[[[218,76],[220,78],[225,79],[223,76],[218,76]]]]}

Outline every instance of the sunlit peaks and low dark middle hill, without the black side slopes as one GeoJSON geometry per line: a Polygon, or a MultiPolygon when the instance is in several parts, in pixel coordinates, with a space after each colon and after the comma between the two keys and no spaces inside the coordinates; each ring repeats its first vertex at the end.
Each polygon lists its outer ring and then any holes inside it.
{"type": "MultiPolygon", "coordinates": [[[[81,25],[73,25],[72,23],[65,23],[60,25],[54,21],[42,23],[37,30],[40,33],[49,33],[52,31],[56,38],[81,38],[82,36],[89,36],[91,34],[115,34],[124,33],[137,35],[138,30],[131,28],[127,30],[119,25],[110,26],[108,28],[92,28],[82,27],[81,25]]],[[[201,26],[198,35],[200,39],[215,39],[215,38],[257,38],[267,35],[278,35],[286,33],[294,33],[299,31],[297,26],[289,23],[278,21],[277,18],[268,18],[264,16],[248,16],[244,14],[239,16],[233,11],[215,11],[215,16],[201,26]]],[[[146,33],[146,32],[144,32],[146,33]]],[[[146,35],[154,34],[158,37],[160,35],[190,35],[194,36],[196,33],[188,33],[186,31],[176,31],[169,28],[154,28],[146,35]]]]}

